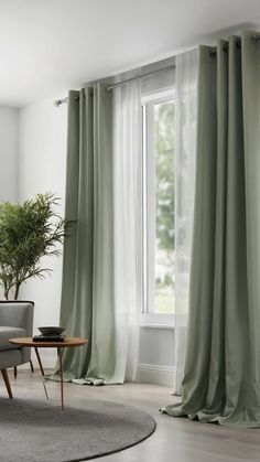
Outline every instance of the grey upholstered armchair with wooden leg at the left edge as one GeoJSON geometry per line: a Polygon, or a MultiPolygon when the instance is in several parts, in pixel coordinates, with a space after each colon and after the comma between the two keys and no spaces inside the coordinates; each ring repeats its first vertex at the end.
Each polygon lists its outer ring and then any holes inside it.
{"type": "Polygon", "coordinates": [[[12,345],[9,339],[32,336],[33,310],[31,301],[0,301],[0,370],[10,398],[7,369],[30,362],[31,348],[12,345]]]}

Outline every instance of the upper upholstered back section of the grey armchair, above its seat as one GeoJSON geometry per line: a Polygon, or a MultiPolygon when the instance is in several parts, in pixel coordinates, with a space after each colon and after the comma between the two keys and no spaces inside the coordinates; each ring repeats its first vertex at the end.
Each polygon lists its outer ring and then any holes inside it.
{"type": "Polygon", "coordinates": [[[29,301],[0,302],[0,325],[25,329],[26,335],[33,333],[34,303],[29,301]]]}

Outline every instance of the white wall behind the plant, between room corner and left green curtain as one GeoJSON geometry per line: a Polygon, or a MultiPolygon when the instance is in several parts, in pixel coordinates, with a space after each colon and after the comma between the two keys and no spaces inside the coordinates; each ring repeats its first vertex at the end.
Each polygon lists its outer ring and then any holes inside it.
{"type": "MultiPolygon", "coordinates": [[[[64,96],[64,95],[62,95],[64,96]]],[[[52,192],[62,201],[64,214],[66,171],[66,105],[55,108],[52,97],[19,110],[19,201],[37,193],[52,192]]],[[[46,257],[44,266],[52,277],[31,279],[21,289],[20,299],[33,300],[34,331],[36,326],[57,325],[61,302],[62,257],[46,257]]]]}

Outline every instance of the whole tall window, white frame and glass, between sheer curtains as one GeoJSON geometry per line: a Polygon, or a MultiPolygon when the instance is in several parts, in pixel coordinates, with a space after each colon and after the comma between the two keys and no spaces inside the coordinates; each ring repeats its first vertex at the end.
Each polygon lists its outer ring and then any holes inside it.
{"type": "Polygon", "coordinates": [[[174,94],[143,98],[143,314],[173,322],[174,313],[174,94]]]}

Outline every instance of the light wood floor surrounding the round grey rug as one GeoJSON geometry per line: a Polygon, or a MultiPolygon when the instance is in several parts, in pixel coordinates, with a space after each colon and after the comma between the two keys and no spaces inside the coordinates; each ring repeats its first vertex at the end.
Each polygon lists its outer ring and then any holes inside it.
{"type": "MultiPolygon", "coordinates": [[[[45,399],[40,372],[32,374],[29,366],[19,368],[18,378],[9,372],[15,397],[45,399]]],[[[59,399],[58,384],[47,382],[50,406],[59,399]]],[[[198,423],[185,418],[161,415],[159,408],[173,402],[176,398],[171,389],[156,385],[126,384],[119,386],[65,385],[65,405],[85,399],[102,399],[136,406],[154,416],[155,432],[140,444],[124,451],[100,458],[100,462],[259,462],[260,429],[235,430],[217,425],[198,423]]],[[[0,404],[7,398],[0,380],[0,404]]],[[[1,408],[1,406],[0,406],[1,408]]],[[[30,461],[29,461],[30,462],[30,461]]],[[[55,461],[52,461],[55,462],[55,461]]]]}

